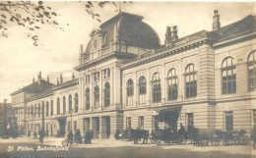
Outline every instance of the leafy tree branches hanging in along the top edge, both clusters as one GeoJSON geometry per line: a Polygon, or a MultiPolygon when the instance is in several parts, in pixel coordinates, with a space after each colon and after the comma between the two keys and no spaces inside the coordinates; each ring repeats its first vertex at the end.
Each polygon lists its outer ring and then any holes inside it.
{"type": "MultiPolygon", "coordinates": [[[[109,2],[109,1],[82,1],[85,5],[87,13],[99,23],[99,14],[96,12],[96,8],[102,9],[105,5],[113,5],[118,11],[117,3],[119,4],[119,10],[121,3],[126,2],[109,2]]],[[[131,3],[131,2],[130,2],[131,3]]],[[[42,1],[0,1],[0,31],[1,35],[8,37],[8,26],[14,24],[17,26],[24,26],[32,31],[32,35],[28,37],[32,38],[33,45],[38,46],[38,35],[34,33],[36,29],[40,29],[42,25],[54,25],[57,28],[63,30],[59,26],[57,20],[57,13],[53,12],[51,7],[45,5],[42,1]]],[[[67,24],[69,26],[69,24],[67,24]]],[[[64,31],[64,30],[63,30],[64,31]]]]}

